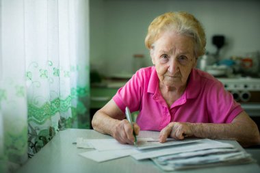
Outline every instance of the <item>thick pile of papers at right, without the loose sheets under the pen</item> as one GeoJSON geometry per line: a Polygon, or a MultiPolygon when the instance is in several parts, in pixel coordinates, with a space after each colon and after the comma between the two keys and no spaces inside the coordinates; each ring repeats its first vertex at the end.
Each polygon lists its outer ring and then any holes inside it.
{"type": "Polygon", "coordinates": [[[135,159],[152,159],[162,170],[172,171],[187,168],[202,168],[216,165],[251,163],[254,160],[245,151],[231,144],[203,139],[196,145],[161,148],[132,155],[135,159]]]}

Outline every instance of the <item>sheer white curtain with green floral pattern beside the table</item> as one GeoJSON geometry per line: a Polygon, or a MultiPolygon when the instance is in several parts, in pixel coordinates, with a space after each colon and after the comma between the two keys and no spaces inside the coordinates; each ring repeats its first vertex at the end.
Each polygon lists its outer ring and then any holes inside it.
{"type": "Polygon", "coordinates": [[[90,128],[88,0],[0,0],[0,172],[90,128]]]}

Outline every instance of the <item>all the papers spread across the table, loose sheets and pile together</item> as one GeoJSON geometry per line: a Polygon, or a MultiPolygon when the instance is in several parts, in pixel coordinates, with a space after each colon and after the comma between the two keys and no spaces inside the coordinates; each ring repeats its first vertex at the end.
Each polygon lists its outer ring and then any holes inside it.
{"type": "Polygon", "coordinates": [[[254,161],[244,150],[211,139],[168,139],[168,142],[161,144],[153,138],[138,138],[138,148],[135,148],[133,145],[120,144],[116,139],[78,138],[77,147],[94,148],[79,154],[94,161],[131,155],[136,160],[151,159],[166,171],[254,161]]]}

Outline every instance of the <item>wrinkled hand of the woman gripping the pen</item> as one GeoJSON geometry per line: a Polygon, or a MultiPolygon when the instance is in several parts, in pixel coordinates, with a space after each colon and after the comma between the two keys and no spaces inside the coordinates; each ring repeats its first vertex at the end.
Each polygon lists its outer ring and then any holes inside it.
{"type": "MultiPolygon", "coordinates": [[[[135,135],[139,134],[140,127],[135,122],[133,123],[135,135]]],[[[133,144],[135,137],[133,137],[133,129],[128,120],[121,120],[113,129],[112,136],[120,142],[120,144],[133,144]]]]}

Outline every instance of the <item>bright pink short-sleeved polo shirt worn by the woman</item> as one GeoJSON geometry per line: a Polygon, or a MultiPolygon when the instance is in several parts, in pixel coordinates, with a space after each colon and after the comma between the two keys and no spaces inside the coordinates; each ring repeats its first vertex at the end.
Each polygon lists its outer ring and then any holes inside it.
{"type": "Polygon", "coordinates": [[[161,131],[169,122],[230,123],[243,111],[220,81],[198,69],[192,69],[187,88],[170,108],[159,91],[154,66],[141,68],[113,97],[125,112],[140,111],[136,122],[141,130],[161,131]]]}

